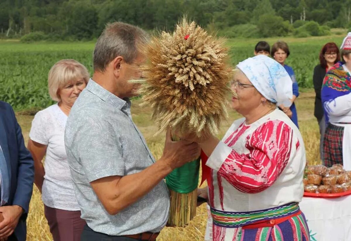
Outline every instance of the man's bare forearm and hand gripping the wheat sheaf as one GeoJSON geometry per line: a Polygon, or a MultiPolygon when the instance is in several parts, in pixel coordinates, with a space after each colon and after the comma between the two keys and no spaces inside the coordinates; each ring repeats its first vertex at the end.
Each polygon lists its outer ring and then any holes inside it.
{"type": "Polygon", "coordinates": [[[165,148],[160,160],[139,173],[125,176],[106,176],[90,182],[102,205],[115,215],[132,205],[157,186],[174,168],[181,167],[200,155],[199,145],[193,141],[172,141],[167,130],[165,148]]]}

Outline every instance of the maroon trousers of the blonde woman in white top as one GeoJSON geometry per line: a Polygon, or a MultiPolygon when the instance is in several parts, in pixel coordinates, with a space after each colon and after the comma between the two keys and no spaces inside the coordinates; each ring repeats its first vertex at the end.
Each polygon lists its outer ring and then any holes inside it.
{"type": "Polygon", "coordinates": [[[54,241],[80,241],[86,225],[80,211],[67,211],[44,205],[44,214],[54,241]]]}

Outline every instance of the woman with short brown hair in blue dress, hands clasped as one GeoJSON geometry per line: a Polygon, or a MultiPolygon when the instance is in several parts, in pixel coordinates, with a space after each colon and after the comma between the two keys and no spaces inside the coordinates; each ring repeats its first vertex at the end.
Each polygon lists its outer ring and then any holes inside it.
{"type": "Polygon", "coordinates": [[[282,109],[282,111],[290,117],[292,122],[294,122],[297,128],[299,128],[298,121],[297,121],[296,106],[294,103],[296,98],[299,96],[299,86],[297,84],[293,69],[289,65],[285,64],[285,60],[287,59],[287,57],[289,57],[289,55],[290,55],[290,51],[286,42],[278,41],[273,44],[272,50],[271,50],[271,56],[284,67],[284,69],[290,75],[290,78],[292,80],[292,98],[290,100],[291,106],[285,107],[280,105],[279,108],[282,109]]]}

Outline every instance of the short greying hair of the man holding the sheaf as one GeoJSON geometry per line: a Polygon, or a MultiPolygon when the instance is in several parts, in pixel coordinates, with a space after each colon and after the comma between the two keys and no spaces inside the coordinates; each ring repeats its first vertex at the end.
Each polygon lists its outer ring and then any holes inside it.
{"type": "Polygon", "coordinates": [[[107,65],[117,56],[132,63],[137,57],[139,46],[146,43],[147,39],[147,33],[139,27],[123,22],[108,24],[95,45],[94,71],[105,71],[107,65]]]}

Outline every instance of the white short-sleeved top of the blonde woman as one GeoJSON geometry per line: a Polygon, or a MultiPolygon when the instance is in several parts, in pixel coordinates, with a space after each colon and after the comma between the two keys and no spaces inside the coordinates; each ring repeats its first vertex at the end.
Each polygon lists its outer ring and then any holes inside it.
{"type": "Polygon", "coordinates": [[[67,115],[55,104],[35,114],[29,138],[47,145],[42,201],[51,208],[78,211],[73,181],[65,151],[67,115]]]}

